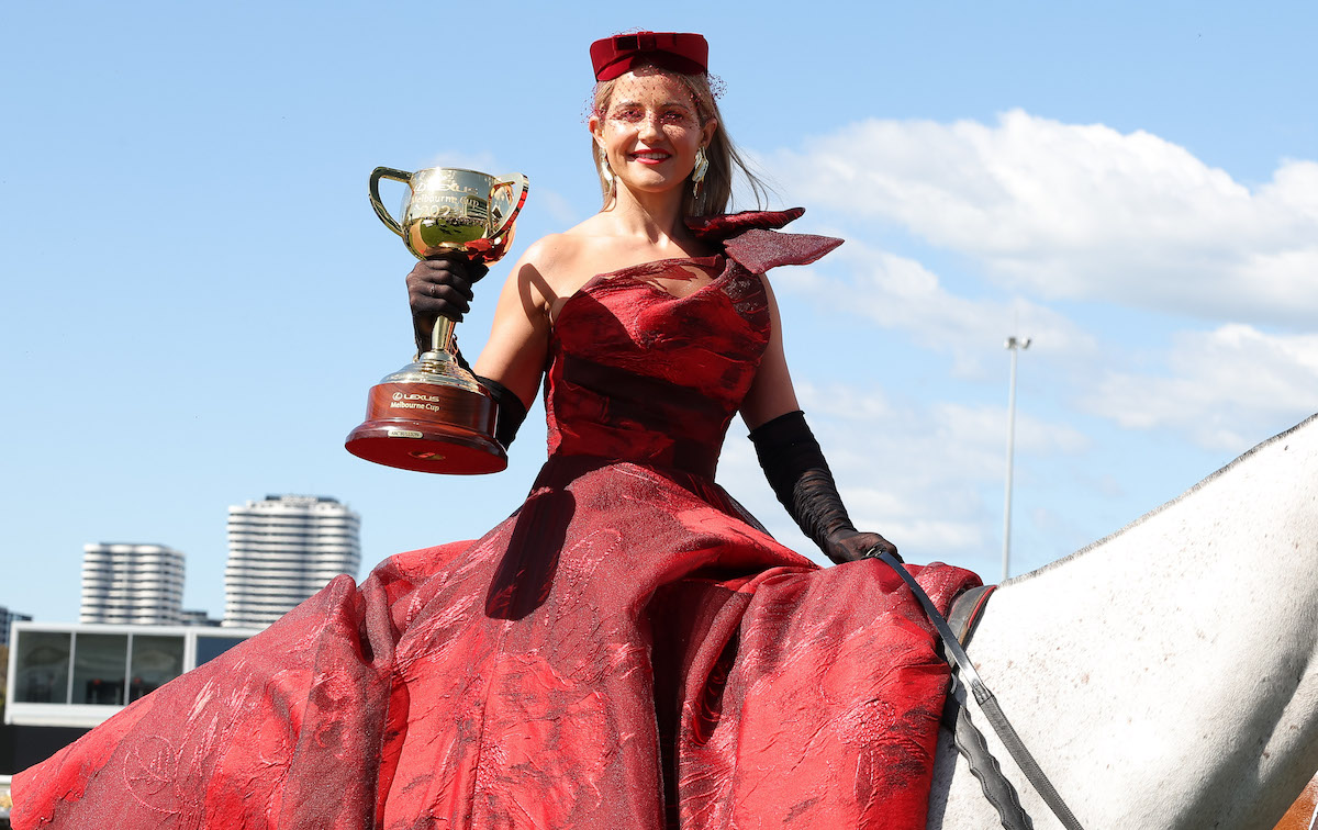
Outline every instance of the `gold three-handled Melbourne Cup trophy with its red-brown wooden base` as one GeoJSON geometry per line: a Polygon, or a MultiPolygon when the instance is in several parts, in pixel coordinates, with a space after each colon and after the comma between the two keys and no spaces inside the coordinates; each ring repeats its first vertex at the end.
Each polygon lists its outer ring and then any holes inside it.
{"type": "MultiPolygon", "coordinates": [[[[513,244],[513,223],[526,203],[521,173],[494,178],[474,170],[431,167],[405,173],[376,167],[370,206],[418,260],[445,252],[497,262],[513,244]],[[410,194],[399,223],[380,202],[380,179],[403,182],[410,194]]],[[[497,473],[507,466],[494,440],[493,398],[457,362],[453,321],[439,318],[430,350],[370,387],[366,420],[348,435],[352,455],[423,473],[497,473]]]]}

